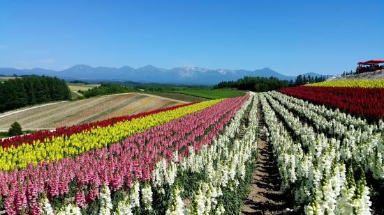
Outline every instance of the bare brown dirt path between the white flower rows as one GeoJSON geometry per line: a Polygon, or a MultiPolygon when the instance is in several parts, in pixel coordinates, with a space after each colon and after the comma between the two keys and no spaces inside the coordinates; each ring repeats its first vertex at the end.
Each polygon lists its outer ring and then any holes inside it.
{"type": "MultiPolygon", "coordinates": [[[[260,131],[265,126],[264,114],[258,105],[260,131]]],[[[265,141],[265,135],[258,136],[258,157],[253,172],[248,198],[244,201],[241,214],[293,214],[292,198],[279,191],[281,180],[279,169],[272,152],[272,145],[265,141]]]]}

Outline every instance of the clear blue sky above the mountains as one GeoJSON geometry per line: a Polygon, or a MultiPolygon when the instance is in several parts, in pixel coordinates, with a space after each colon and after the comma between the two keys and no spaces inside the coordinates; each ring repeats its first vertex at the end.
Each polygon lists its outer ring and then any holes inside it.
{"type": "Polygon", "coordinates": [[[0,1],[0,67],[338,74],[384,58],[384,1],[0,1]]]}

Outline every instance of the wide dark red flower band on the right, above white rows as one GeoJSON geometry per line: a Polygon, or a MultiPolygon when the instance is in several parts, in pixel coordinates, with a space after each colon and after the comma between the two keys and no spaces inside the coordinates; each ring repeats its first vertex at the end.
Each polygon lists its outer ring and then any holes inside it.
{"type": "Polygon", "coordinates": [[[316,104],[346,110],[357,116],[384,118],[384,88],[297,86],[278,91],[316,104]]]}

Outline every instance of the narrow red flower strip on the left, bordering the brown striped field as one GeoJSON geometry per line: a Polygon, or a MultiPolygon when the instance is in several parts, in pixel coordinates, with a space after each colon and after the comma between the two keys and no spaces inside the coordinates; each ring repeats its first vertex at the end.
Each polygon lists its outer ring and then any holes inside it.
{"type": "Polygon", "coordinates": [[[23,136],[14,136],[11,138],[3,138],[0,139],[0,146],[2,148],[9,148],[10,146],[17,147],[22,144],[31,144],[31,143],[36,143],[36,142],[48,142],[51,141],[52,138],[57,137],[57,136],[71,136],[73,134],[79,134],[82,132],[88,132],[91,129],[94,129],[96,127],[107,127],[110,125],[115,125],[117,122],[123,122],[123,121],[129,121],[133,120],[136,118],[142,118],[145,116],[149,116],[155,113],[161,113],[164,111],[172,111],[174,109],[181,108],[183,106],[189,106],[192,104],[196,104],[198,102],[194,103],[189,103],[189,104],[181,104],[177,106],[171,106],[165,109],[158,109],[155,111],[148,111],[144,113],[138,113],[134,114],[131,116],[119,116],[119,117],[114,117],[114,118],[109,118],[107,120],[101,120],[97,122],[89,122],[89,123],[84,123],[80,125],[73,125],[70,127],[58,127],[54,129],[54,131],[42,131],[42,132],[34,132],[32,134],[26,134],[23,136]]]}

